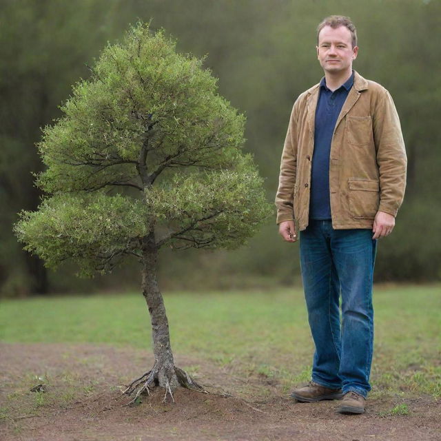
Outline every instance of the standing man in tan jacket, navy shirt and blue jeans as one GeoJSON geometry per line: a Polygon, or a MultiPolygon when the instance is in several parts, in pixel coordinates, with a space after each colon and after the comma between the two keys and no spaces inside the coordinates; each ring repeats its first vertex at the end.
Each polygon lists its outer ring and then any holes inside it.
{"type": "Polygon", "coordinates": [[[389,92],[352,70],[358,46],[351,20],[327,17],[317,39],[325,76],[294,103],[276,195],[280,234],[294,243],[300,230],[316,348],[311,382],[291,396],[342,398],[339,413],[362,413],[371,389],[376,243],[395,225],[407,158],[389,92]]]}

